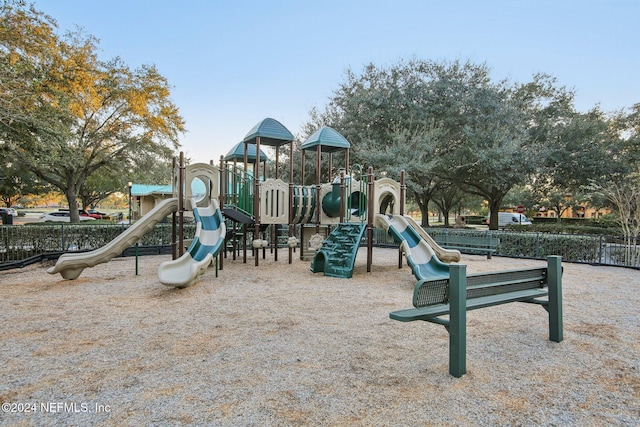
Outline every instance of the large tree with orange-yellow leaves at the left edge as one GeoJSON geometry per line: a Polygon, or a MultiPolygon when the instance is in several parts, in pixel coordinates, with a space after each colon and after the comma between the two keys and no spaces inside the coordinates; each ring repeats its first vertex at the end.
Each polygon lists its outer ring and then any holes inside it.
{"type": "Polygon", "coordinates": [[[93,37],[57,36],[55,21],[33,6],[1,11],[0,148],[66,195],[72,221],[94,173],[178,148],[184,122],[154,66],[101,61],[93,37]]]}

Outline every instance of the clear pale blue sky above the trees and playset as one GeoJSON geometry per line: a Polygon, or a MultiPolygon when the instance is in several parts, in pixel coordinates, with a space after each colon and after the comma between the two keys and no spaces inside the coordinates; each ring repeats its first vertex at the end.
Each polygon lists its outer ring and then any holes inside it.
{"type": "Polygon", "coordinates": [[[294,135],[368,63],[486,63],[495,80],[545,72],[576,107],[640,102],[640,0],[37,0],[103,59],[155,64],[186,121],[182,149],[216,162],[260,120],[294,135]]]}

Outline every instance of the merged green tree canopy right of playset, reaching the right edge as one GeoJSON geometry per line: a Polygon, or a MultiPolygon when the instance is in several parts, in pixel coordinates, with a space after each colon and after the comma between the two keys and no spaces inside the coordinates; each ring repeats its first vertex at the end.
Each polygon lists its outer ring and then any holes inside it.
{"type": "Polygon", "coordinates": [[[494,81],[486,64],[412,59],[347,70],[305,131],[331,126],[352,143],[355,162],[391,176],[404,169],[423,225],[429,202],[445,211],[462,192],[487,201],[495,229],[514,188],[561,213],[584,202],[590,179],[626,176],[638,164],[638,111],[579,113],[573,91],[547,74],[494,81]]]}

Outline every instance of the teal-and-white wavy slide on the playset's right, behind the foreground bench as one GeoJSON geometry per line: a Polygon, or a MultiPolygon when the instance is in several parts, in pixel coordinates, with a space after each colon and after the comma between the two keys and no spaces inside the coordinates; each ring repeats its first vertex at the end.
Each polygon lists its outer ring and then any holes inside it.
{"type": "Polygon", "coordinates": [[[400,248],[407,257],[407,264],[416,279],[449,277],[449,264],[438,259],[431,246],[405,217],[376,214],[375,222],[376,226],[386,230],[400,243],[400,248]]]}

